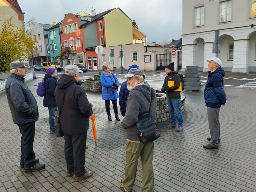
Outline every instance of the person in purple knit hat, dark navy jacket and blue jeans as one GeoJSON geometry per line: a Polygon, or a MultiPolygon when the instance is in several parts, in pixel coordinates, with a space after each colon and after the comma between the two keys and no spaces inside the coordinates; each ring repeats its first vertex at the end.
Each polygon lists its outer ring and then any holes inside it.
{"type": "Polygon", "coordinates": [[[56,133],[54,117],[55,117],[57,104],[54,96],[54,90],[57,84],[57,80],[56,80],[57,75],[58,75],[58,72],[53,67],[48,68],[44,75],[45,95],[44,95],[43,106],[48,107],[48,110],[49,110],[50,133],[56,133]]]}

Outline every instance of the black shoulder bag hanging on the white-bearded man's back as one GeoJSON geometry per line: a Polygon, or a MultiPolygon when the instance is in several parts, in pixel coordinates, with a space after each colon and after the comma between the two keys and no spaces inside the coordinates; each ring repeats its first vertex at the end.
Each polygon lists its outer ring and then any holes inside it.
{"type": "MultiPolygon", "coordinates": [[[[152,94],[152,93],[151,93],[152,94]]],[[[149,106],[149,112],[139,117],[136,123],[136,131],[139,137],[139,141],[142,143],[152,142],[160,137],[157,131],[157,125],[150,115],[151,102],[149,106]]]]}

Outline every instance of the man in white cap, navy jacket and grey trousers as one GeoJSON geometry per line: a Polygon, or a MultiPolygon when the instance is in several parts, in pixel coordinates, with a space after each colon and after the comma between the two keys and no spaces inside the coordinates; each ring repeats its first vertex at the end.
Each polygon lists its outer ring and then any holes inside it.
{"type": "Polygon", "coordinates": [[[224,91],[225,72],[221,68],[221,60],[217,57],[206,60],[208,63],[208,80],[204,89],[204,100],[207,107],[208,122],[211,137],[207,138],[209,144],[203,145],[207,149],[218,149],[221,140],[219,112],[221,105],[227,103],[226,93],[224,91]]]}

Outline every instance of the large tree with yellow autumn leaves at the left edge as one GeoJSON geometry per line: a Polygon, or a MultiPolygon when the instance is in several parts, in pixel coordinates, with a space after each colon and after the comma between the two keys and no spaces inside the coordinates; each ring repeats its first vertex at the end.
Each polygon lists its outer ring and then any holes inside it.
{"type": "Polygon", "coordinates": [[[21,27],[12,23],[12,19],[10,17],[2,23],[0,32],[0,72],[9,71],[11,62],[28,61],[29,56],[33,54],[34,44],[37,42],[32,37],[34,18],[21,27]],[[25,25],[29,29],[25,29],[25,25]]]}

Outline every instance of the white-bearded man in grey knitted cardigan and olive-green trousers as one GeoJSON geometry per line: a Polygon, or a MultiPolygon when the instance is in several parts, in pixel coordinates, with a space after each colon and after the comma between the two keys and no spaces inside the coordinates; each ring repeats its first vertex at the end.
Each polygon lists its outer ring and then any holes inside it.
{"type": "Polygon", "coordinates": [[[132,191],[139,155],[142,160],[142,191],[154,191],[153,152],[154,142],[141,143],[136,133],[136,122],[142,114],[148,113],[151,105],[151,116],[157,117],[157,101],[155,90],[151,88],[143,78],[142,71],[136,68],[130,69],[127,78],[127,89],[130,94],[127,99],[126,113],[121,126],[126,129],[126,163],[124,178],[120,186],[125,191],[132,191]],[[151,94],[153,97],[151,97],[151,94]]]}

